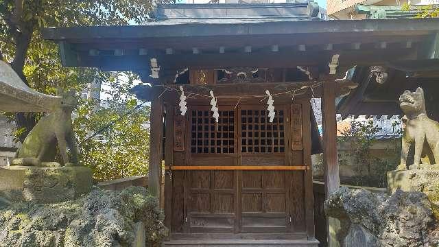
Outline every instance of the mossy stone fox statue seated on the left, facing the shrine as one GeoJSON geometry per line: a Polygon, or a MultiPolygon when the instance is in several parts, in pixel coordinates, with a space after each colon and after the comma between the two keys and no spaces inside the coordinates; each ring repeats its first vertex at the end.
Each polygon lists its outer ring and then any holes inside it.
{"type": "Polygon", "coordinates": [[[71,124],[71,112],[77,105],[78,100],[73,93],[65,93],[60,108],[41,118],[29,132],[12,165],[59,165],[54,163],[57,143],[64,165],[78,164],[78,149],[71,124]],[[70,148],[72,161],[69,161],[67,147],[70,148]]]}

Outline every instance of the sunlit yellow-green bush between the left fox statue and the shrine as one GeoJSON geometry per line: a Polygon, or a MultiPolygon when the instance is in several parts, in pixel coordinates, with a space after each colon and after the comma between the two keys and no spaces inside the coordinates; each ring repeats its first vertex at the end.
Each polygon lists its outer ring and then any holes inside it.
{"type": "Polygon", "coordinates": [[[108,108],[92,99],[82,99],[73,121],[80,143],[80,161],[94,170],[96,180],[111,180],[132,175],[146,175],[149,157],[149,106],[136,108],[136,99],[126,90],[128,82],[112,78],[108,108]],[[91,134],[101,131],[96,137],[91,134]]]}

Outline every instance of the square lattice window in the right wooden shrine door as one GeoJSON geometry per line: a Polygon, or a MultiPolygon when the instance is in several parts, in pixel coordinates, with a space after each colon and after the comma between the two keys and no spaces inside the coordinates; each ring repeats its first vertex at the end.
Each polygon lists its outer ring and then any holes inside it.
{"type": "Polygon", "coordinates": [[[284,112],[276,110],[269,121],[267,110],[241,110],[241,152],[285,152],[284,112]]]}

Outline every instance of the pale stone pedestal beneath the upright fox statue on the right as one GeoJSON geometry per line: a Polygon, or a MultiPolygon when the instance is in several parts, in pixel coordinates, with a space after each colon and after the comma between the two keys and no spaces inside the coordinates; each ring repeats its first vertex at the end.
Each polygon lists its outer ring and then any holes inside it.
{"type": "Polygon", "coordinates": [[[419,191],[427,195],[431,202],[436,219],[439,219],[439,169],[437,165],[429,165],[431,169],[412,169],[390,171],[387,173],[388,193],[396,189],[402,191],[419,191]]]}

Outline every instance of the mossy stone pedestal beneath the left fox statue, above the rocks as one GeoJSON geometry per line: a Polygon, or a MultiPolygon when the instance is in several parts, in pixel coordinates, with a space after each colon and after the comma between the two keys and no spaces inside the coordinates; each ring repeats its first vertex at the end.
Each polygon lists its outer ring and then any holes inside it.
{"type": "Polygon", "coordinates": [[[87,167],[0,167],[0,196],[11,202],[73,200],[91,191],[92,177],[87,167]]]}

